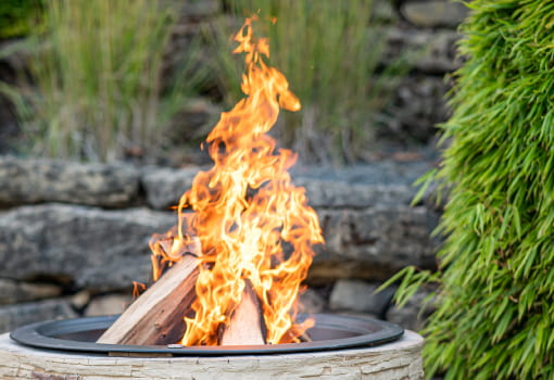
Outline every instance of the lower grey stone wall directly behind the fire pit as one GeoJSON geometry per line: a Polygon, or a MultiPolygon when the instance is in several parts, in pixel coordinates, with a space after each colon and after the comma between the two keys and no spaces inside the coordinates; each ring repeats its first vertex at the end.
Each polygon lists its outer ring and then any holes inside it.
{"type": "MultiPolygon", "coordinates": [[[[295,167],[326,246],[302,295],[305,311],[375,315],[416,328],[374,294],[405,265],[435,267],[438,211],[414,207],[411,183],[430,162],[295,167]]],[[[36,320],[119,313],[133,281],[150,281],[148,240],[176,223],[169,210],[199,167],[75,164],[0,156],[0,331],[36,320]]]]}

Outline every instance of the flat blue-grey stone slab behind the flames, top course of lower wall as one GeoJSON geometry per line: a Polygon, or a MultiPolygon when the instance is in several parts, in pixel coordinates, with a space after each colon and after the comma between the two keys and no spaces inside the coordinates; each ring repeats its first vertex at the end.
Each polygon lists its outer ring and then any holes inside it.
{"type": "MultiPolygon", "coordinates": [[[[169,169],[150,167],[142,173],[147,202],[153,208],[176,205],[190,189],[199,167],[169,169]]],[[[292,170],[295,186],[306,189],[313,207],[367,207],[383,203],[410,204],[412,183],[430,169],[427,162],[385,161],[342,169],[299,166],[292,170]]]]}

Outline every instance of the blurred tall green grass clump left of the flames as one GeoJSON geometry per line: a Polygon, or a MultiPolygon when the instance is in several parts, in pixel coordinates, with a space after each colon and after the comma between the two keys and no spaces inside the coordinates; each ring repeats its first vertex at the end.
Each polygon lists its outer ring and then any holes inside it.
{"type": "Polygon", "coordinates": [[[110,161],[162,144],[188,89],[184,67],[162,93],[169,11],[151,0],[48,2],[46,33],[26,41],[34,87],[17,92],[32,153],[110,161]]]}

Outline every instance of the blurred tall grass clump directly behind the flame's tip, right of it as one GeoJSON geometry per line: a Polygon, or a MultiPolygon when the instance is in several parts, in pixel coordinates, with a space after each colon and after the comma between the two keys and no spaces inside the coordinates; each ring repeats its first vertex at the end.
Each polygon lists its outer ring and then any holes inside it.
{"type": "MultiPolygon", "coordinates": [[[[383,39],[370,28],[373,1],[367,0],[230,0],[237,20],[260,14],[259,36],[268,36],[270,63],[289,80],[302,102],[299,113],[284,113],[276,130],[285,145],[303,159],[356,161],[372,143],[376,110],[387,101],[375,73],[383,39]],[[276,23],[272,20],[276,18],[276,23]]],[[[237,25],[215,31],[223,92],[228,103],[243,94],[243,63],[230,56],[229,39],[237,25]]],[[[391,86],[389,86],[390,88],[391,86]]]]}

